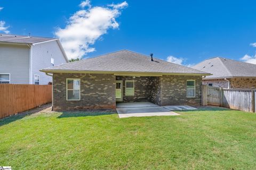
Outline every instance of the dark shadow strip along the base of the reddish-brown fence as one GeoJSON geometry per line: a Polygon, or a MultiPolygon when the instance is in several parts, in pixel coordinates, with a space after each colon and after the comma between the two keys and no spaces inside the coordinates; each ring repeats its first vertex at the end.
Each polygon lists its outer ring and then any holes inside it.
{"type": "Polygon", "coordinates": [[[21,120],[23,117],[29,116],[31,114],[35,114],[35,113],[41,112],[44,109],[51,107],[51,105],[52,104],[42,105],[42,106],[30,109],[28,111],[18,113],[16,115],[12,115],[12,116],[8,116],[8,117],[5,117],[5,118],[1,118],[0,119],[0,126],[9,124],[9,123],[14,122],[14,121],[21,120]]]}

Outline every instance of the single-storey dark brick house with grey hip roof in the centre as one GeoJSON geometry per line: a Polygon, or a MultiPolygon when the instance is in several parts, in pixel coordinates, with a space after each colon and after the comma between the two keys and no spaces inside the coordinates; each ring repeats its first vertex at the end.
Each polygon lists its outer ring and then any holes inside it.
{"type": "Polygon", "coordinates": [[[203,71],[121,50],[41,70],[53,74],[53,110],[115,108],[116,102],[200,105],[203,71]]]}

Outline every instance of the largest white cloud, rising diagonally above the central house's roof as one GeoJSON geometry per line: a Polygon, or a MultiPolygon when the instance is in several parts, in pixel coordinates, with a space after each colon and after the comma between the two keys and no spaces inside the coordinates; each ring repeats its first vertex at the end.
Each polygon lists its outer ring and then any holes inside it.
{"type": "MultiPolygon", "coordinates": [[[[90,1],[87,1],[87,4],[90,4],[90,1]]],[[[93,52],[95,48],[91,45],[97,39],[107,33],[108,29],[118,28],[116,18],[124,7],[121,4],[116,4],[115,7],[94,6],[87,10],[79,10],[70,16],[65,28],[57,29],[55,35],[60,39],[68,58],[81,58],[93,52]]]]}

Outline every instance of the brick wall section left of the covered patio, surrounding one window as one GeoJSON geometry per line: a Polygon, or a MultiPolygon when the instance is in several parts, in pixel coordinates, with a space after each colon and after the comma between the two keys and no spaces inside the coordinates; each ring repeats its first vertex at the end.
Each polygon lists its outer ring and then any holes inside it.
{"type": "Polygon", "coordinates": [[[115,75],[54,73],[53,111],[111,109],[116,107],[115,75]],[[66,79],[81,79],[81,100],[66,100],[66,79]]]}

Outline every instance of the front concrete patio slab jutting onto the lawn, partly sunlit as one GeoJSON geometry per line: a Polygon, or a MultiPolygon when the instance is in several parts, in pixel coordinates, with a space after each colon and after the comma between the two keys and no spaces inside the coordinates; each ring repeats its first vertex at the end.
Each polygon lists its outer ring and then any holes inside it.
{"type": "Polygon", "coordinates": [[[130,108],[117,108],[119,118],[124,117],[143,117],[143,116],[173,116],[179,115],[178,113],[171,112],[163,107],[130,107],[130,108]]]}

